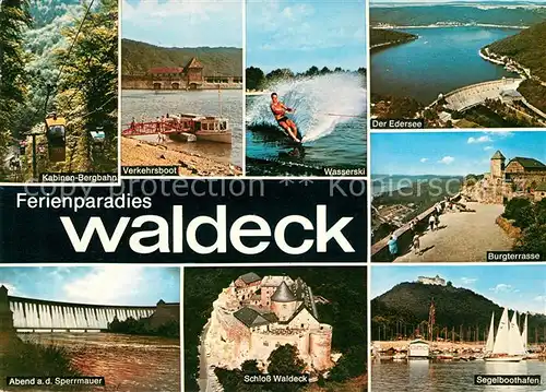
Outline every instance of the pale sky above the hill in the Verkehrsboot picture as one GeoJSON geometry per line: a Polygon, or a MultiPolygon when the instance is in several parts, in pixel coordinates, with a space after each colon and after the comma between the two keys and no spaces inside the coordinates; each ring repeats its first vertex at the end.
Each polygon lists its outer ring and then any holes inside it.
{"type": "Polygon", "coordinates": [[[241,0],[122,0],[121,36],[162,47],[242,47],[241,0]]]}

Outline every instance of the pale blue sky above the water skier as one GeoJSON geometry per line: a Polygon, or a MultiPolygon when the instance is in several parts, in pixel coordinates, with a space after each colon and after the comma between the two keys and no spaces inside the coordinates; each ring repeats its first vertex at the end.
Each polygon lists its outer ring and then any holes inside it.
{"type": "Polygon", "coordinates": [[[247,67],[366,67],[364,0],[248,0],[247,67]]]}

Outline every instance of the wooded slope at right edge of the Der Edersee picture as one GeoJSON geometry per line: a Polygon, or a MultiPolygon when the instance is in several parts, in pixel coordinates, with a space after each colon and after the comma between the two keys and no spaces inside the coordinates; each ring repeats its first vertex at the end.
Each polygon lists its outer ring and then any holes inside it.
{"type": "Polygon", "coordinates": [[[500,56],[508,56],[531,73],[546,81],[546,22],[542,22],[521,31],[505,39],[497,40],[488,46],[489,50],[500,56]]]}

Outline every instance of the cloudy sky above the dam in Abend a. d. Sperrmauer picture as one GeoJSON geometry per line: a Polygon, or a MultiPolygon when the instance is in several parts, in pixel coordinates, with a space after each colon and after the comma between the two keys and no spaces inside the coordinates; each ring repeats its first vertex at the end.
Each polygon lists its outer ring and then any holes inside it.
{"type": "Polygon", "coordinates": [[[178,268],[140,265],[0,268],[9,295],[96,305],[153,306],[180,300],[178,268]]]}

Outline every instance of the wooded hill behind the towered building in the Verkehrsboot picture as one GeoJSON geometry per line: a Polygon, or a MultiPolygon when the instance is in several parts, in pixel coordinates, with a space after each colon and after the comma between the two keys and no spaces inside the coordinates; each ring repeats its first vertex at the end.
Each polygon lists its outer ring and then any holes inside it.
{"type": "Polygon", "coordinates": [[[240,48],[163,48],[131,39],[121,40],[121,74],[143,74],[154,67],[186,67],[192,57],[203,64],[204,75],[242,76],[240,48]]]}

